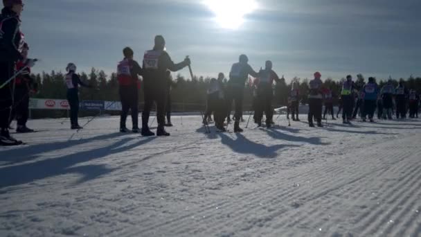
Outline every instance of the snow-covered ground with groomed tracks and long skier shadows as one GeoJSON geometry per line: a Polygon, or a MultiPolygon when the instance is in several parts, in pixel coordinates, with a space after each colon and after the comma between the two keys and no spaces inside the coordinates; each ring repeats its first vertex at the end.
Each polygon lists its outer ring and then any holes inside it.
{"type": "Polygon", "coordinates": [[[61,121],[0,148],[0,236],[421,236],[420,120],[204,134],[184,116],[165,138],[61,121]]]}

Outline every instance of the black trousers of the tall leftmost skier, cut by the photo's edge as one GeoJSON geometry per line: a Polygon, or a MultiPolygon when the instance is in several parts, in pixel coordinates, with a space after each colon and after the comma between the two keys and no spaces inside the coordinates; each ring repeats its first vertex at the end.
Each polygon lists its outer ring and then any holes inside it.
{"type": "MultiPolygon", "coordinates": [[[[15,63],[0,62],[0,85],[13,76],[15,63]]],[[[10,82],[13,83],[13,82],[10,82]]],[[[0,89],[0,128],[9,128],[10,107],[12,106],[12,84],[0,89]]]]}

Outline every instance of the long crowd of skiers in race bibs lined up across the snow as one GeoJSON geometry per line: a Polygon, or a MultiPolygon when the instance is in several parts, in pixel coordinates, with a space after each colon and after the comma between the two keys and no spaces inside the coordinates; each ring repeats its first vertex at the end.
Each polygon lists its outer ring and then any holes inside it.
{"type": "MultiPolygon", "coordinates": [[[[4,8],[0,15],[0,145],[14,146],[22,142],[10,136],[10,123],[17,119],[17,132],[33,132],[26,127],[28,120],[28,103],[31,93],[36,93],[37,84],[30,78],[30,67],[36,60],[28,58],[29,46],[24,41],[24,34],[20,31],[20,14],[24,8],[21,0],[3,0],[4,8]]],[[[240,121],[243,113],[244,85],[249,79],[249,85],[253,88],[253,121],[262,126],[265,122],[267,128],[274,124],[274,83],[285,82],[279,78],[272,69],[272,62],[265,63],[265,69],[254,71],[248,64],[247,55],[240,55],[239,61],[234,63],[229,73],[229,80],[225,84],[224,74],[220,73],[217,78],[212,78],[207,90],[207,106],[204,113],[203,123],[207,125],[208,118],[213,114],[215,127],[220,132],[225,132],[224,122],[231,120],[231,109],[234,110],[234,132],[242,132],[240,121]],[[255,78],[250,79],[250,76],[255,78]],[[232,108],[231,105],[234,104],[232,108]],[[265,121],[263,121],[265,114],[265,121]]],[[[122,111],[120,114],[120,132],[129,132],[126,128],[126,119],[129,111],[132,116],[132,132],[140,132],[142,136],[154,136],[149,128],[150,112],[156,105],[156,121],[158,127],[156,136],[169,136],[165,126],[171,123],[171,88],[176,86],[170,79],[170,71],[179,71],[184,67],[190,68],[190,59],[185,58],[182,62],[174,64],[170,55],[165,51],[165,40],[161,35],[154,38],[154,47],[143,55],[142,66],[134,60],[134,51],[129,47],[123,49],[123,60],[118,63],[117,75],[119,83],[120,102],[122,111]],[[142,84],[138,76],[143,78],[142,84]],[[144,91],[144,108],[142,112],[142,128],[138,128],[138,90],[144,91]],[[167,123],[165,123],[165,115],[167,123]]],[[[80,130],[78,123],[79,92],[78,87],[88,87],[80,80],[76,73],[76,65],[69,63],[66,67],[65,85],[67,88],[66,98],[70,106],[71,129],[80,130]]],[[[191,73],[191,68],[190,68],[191,73]]],[[[301,95],[298,84],[294,82],[288,95],[287,113],[292,115],[293,121],[299,121],[299,105],[301,97],[307,96],[309,112],[308,124],[314,127],[322,127],[322,119],[326,114],[334,118],[334,98],[331,88],[323,87],[321,73],[314,73],[314,79],[310,81],[310,91],[307,95],[301,95]],[[322,113],[323,104],[325,111],[322,113]],[[323,116],[322,116],[323,115],[323,116]]],[[[375,109],[380,119],[392,119],[395,108],[397,118],[405,118],[409,108],[409,116],[418,118],[418,105],[420,96],[413,89],[406,89],[403,82],[395,88],[392,81],[381,89],[375,82],[375,78],[369,78],[367,84],[352,81],[352,76],[347,76],[343,82],[340,94],[340,109],[342,109],[343,123],[350,123],[355,119],[358,112],[363,121],[368,119],[373,122],[375,109]],[[394,107],[395,105],[395,107],[394,107]]],[[[337,116],[339,115],[339,111],[337,116]]]]}

